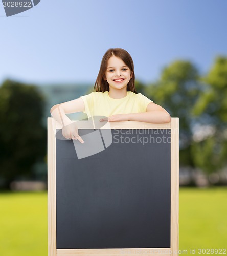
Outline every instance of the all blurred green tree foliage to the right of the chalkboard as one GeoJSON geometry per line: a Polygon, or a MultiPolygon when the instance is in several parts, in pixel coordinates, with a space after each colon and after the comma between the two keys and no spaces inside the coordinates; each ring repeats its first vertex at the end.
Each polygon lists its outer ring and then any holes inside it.
{"type": "Polygon", "coordinates": [[[205,77],[189,61],[174,61],[147,88],[147,94],[172,117],[179,117],[181,166],[197,167],[209,174],[227,163],[226,57],[217,57],[205,77]],[[215,132],[206,134],[203,125],[210,125],[215,132]],[[199,129],[202,136],[195,139],[199,129]]]}

